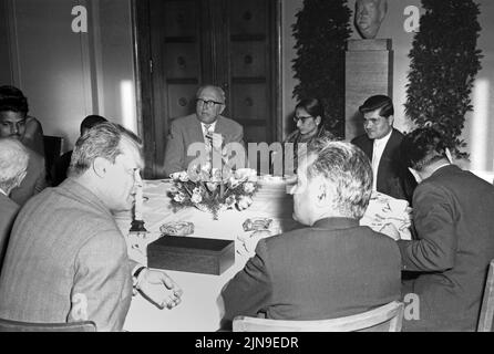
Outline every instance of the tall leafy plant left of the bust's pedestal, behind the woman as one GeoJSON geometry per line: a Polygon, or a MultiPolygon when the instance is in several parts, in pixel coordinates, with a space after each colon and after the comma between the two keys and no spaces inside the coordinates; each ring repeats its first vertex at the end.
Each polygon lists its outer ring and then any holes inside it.
{"type": "Polygon", "coordinates": [[[351,11],[347,0],[305,0],[296,14],[297,59],[292,69],[300,83],[294,97],[319,97],[326,127],[344,135],[344,51],[350,38],[351,11]]]}

